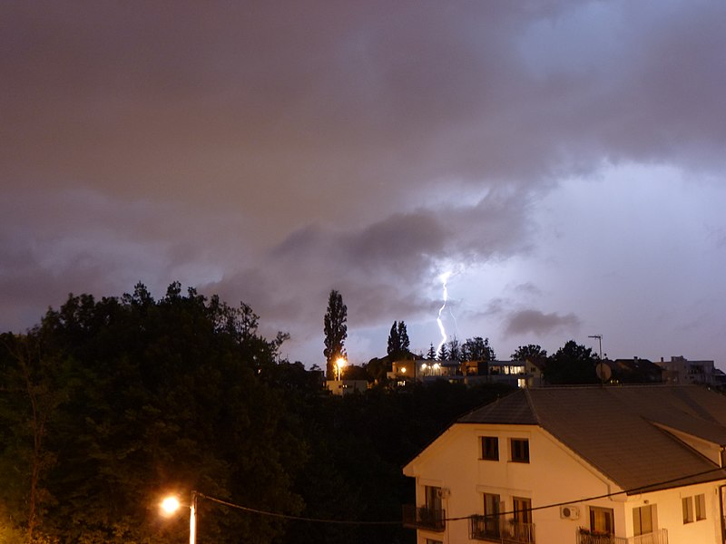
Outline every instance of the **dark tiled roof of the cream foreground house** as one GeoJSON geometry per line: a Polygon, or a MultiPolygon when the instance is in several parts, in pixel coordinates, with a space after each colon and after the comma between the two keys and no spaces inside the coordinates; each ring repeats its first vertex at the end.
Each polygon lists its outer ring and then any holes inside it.
{"type": "Polygon", "coordinates": [[[699,386],[524,389],[457,423],[539,425],[623,490],[726,478],[713,461],[662,429],[726,445],[726,396],[699,386]],[[689,475],[696,476],[682,478],[689,475]]]}

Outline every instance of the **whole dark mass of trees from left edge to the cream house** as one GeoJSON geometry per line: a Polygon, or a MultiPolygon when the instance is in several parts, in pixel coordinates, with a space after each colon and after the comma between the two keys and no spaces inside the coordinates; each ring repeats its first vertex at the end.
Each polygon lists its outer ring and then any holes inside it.
{"type": "MultiPolygon", "coordinates": [[[[457,415],[505,393],[442,382],[333,397],[280,362],[250,306],[173,283],[154,300],[69,296],[0,335],[0,541],[188,539],[192,490],[325,520],[400,520],[402,466],[457,415]]],[[[198,542],[412,542],[400,525],[285,520],[199,503],[198,542]]]]}

